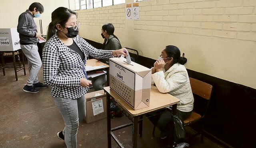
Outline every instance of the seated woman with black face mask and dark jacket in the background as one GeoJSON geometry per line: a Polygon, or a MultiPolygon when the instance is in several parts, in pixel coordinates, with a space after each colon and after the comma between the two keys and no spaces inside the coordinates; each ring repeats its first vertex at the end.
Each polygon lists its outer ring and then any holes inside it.
{"type": "MultiPolygon", "coordinates": [[[[122,48],[118,37],[114,35],[114,31],[115,31],[115,28],[111,23],[107,23],[102,26],[101,36],[102,38],[104,38],[103,45],[105,50],[117,50],[122,48]]],[[[98,60],[106,64],[109,63],[109,58],[98,59],[98,60]]],[[[93,82],[92,85],[95,91],[102,90],[103,87],[106,86],[107,75],[104,74],[104,75],[100,75],[98,77],[92,78],[92,82],[93,82]]]]}

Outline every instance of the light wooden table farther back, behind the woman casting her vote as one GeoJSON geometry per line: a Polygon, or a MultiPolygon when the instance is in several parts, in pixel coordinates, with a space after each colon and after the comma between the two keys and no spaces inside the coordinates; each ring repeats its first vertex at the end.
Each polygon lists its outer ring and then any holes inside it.
{"type": "Polygon", "coordinates": [[[98,68],[94,68],[94,69],[86,69],[86,73],[87,72],[92,72],[92,71],[98,71],[98,70],[106,70],[107,71],[107,86],[109,86],[109,65],[102,63],[101,61],[98,61],[96,59],[88,59],[86,60],[86,66],[102,66],[102,67],[98,67],[98,68]]]}

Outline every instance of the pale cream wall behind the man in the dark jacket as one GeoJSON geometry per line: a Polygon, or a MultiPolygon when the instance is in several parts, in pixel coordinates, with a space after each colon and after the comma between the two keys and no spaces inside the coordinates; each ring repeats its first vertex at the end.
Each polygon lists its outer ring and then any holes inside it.
{"type": "Polygon", "coordinates": [[[16,28],[20,14],[25,12],[33,2],[40,2],[44,6],[44,13],[39,18],[34,18],[39,33],[39,20],[42,20],[43,34],[47,33],[52,12],[61,6],[69,8],[68,0],[1,0],[0,20],[2,23],[0,23],[0,28],[16,28]]]}

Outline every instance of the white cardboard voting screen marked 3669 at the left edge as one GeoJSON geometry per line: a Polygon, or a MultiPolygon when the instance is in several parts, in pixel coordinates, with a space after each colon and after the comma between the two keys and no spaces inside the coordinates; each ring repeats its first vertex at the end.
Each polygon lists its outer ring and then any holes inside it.
{"type": "Polygon", "coordinates": [[[0,28],[0,51],[20,49],[20,37],[17,28],[0,28]]]}

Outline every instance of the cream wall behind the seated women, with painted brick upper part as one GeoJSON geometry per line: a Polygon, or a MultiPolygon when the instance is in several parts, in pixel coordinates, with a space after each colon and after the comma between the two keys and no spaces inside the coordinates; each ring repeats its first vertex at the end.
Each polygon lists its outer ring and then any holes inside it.
{"type": "Polygon", "coordinates": [[[188,69],[256,88],[256,0],[147,0],[140,20],[125,20],[124,6],[77,11],[80,36],[102,43],[110,22],[122,46],[140,55],[157,59],[176,45],[188,69]]]}

